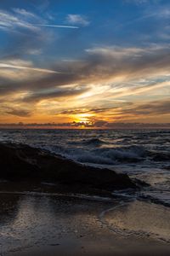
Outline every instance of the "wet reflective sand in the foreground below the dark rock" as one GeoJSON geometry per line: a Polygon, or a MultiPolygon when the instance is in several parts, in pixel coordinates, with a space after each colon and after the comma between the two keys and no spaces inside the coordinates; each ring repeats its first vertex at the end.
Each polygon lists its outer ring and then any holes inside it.
{"type": "Polygon", "coordinates": [[[1,191],[0,255],[170,255],[169,208],[53,193],[1,191]]]}

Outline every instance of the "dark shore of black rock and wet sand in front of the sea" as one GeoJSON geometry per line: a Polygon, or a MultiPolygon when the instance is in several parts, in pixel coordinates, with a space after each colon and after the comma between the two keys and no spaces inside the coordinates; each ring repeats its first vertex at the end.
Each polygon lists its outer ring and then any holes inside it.
{"type": "Polygon", "coordinates": [[[146,183],[23,144],[0,156],[0,254],[170,254],[169,208],[135,197],[146,183]]]}

